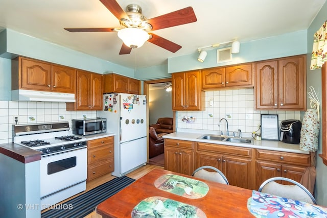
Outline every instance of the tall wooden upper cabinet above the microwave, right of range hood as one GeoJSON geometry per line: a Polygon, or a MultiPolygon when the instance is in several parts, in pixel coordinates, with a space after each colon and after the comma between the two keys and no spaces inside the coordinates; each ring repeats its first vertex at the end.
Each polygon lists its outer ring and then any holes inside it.
{"type": "Polygon", "coordinates": [[[76,102],[66,103],[66,110],[102,110],[103,75],[77,70],[76,102]]]}

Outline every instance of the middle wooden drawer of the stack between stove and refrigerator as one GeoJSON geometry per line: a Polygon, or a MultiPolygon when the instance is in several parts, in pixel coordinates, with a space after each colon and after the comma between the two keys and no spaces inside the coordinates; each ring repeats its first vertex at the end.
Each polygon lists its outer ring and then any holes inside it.
{"type": "Polygon", "coordinates": [[[113,145],[98,147],[97,149],[89,149],[87,151],[87,156],[88,164],[113,159],[113,145]]]}

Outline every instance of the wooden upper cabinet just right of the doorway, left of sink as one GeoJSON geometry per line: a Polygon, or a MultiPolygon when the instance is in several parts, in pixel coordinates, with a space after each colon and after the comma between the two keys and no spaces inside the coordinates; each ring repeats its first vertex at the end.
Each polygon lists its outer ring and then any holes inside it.
{"type": "Polygon", "coordinates": [[[202,98],[199,70],[172,74],[173,110],[204,110],[202,98]]]}

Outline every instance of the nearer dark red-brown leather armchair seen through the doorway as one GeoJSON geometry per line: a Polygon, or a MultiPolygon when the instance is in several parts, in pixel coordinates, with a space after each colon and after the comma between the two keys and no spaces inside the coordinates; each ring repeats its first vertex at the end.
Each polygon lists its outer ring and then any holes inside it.
{"type": "Polygon", "coordinates": [[[165,139],[162,136],[166,134],[157,134],[153,127],[149,127],[149,158],[164,153],[165,139]]]}

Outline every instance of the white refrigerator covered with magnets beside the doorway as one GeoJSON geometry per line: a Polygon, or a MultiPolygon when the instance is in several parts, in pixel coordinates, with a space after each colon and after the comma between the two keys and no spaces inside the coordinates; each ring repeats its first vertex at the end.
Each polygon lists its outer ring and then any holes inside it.
{"type": "Polygon", "coordinates": [[[147,162],[147,99],[126,93],[103,98],[103,110],[97,116],[107,118],[107,132],[115,133],[112,175],[121,177],[147,162]]]}

